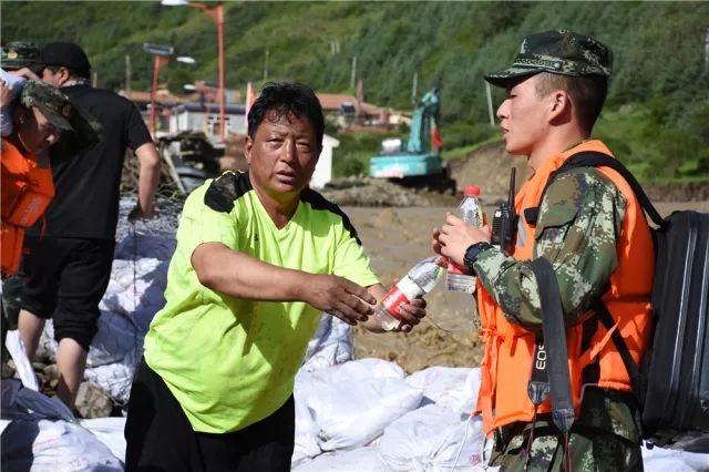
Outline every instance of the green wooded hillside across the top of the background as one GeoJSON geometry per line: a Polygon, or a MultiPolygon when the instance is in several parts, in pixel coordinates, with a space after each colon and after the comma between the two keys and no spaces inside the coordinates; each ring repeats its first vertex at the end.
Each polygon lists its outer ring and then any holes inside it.
{"type": "MultiPolygon", "coordinates": [[[[7,0],[0,9],[3,42],[76,41],[105,88],[124,86],[126,54],[133,89],[148,88],[144,42],[198,61],[163,69],[173,91],[216,80],[216,27],[195,9],[7,0]]],[[[592,34],[616,59],[597,135],[646,179],[709,174],[709,2],[227,2],[225,18],[227,86],[260,85],[268,51],[268,80],[353,93],[357,57],[366,100],[408,109],[418,73],[419,92],[442,91],[448,148],[496,133],[482,74],[505,66],[522,35],[552,28],[592,34]]],[[[499,103],[501,91],[493,96],[499,103]]]]}

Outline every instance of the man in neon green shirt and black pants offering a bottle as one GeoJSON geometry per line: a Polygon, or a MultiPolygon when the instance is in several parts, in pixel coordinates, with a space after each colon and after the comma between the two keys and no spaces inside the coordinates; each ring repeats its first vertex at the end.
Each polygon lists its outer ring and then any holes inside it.
{"type": "MultiPolygon", "coordinates": [[[[308,187],[323,129],[310,89],[270,84],[248,115],[248,173],[185,202],[131,392],[126,470],[290,470],[295,376],[321,312],[381,330],[368,317],[386,290],[357,232],[308,187]]],[[[400,329],[424,307],[407,305],[400,329]]]]}

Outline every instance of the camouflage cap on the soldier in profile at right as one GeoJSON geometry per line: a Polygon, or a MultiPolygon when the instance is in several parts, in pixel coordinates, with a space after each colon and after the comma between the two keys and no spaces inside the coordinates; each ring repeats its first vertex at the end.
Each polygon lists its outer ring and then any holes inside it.
{"type": "Polygon", "coordinates": [[[612,70],[613,52],[608,47],[589,37],[555,30],[525,37],[512,65],[484,78],[495,86],[506,88],[512,80],[540,72],[608,78],[612,70]]]}

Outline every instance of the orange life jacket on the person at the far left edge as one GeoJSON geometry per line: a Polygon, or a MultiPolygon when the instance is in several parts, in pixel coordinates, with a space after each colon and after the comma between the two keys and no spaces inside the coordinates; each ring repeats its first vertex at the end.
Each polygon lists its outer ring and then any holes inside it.
{"type": "Polygon", "coordinates": [[[37,156],[22,155],[8,140],[2,140],[2,181],[0,219],[0,268],[3,276],[18,270],[24,228],[32,226],[54,196],[52,172],[38,165],[37,156]]]}

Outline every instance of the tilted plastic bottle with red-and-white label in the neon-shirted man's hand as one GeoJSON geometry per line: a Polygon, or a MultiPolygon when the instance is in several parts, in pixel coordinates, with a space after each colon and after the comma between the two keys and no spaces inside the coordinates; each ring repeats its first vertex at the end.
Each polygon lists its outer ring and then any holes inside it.
{"type": "Polygon", "coordinates": [[[421,260],[377,304],[372,316],[379,320],[384,331],[391,331],[399,326],[403,304],[422,298],[433,290],[435,284],[443,276],[444,269],[440,265],[441,260],[440,256],[421,260]]]}

